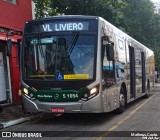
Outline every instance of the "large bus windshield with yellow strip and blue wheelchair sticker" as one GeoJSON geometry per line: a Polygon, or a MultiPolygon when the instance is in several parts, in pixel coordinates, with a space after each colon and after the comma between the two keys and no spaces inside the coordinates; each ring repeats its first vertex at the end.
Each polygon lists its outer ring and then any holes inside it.
{"type": "Polygon", "coordinates": [[[65,35],[25,37],[24,79],[93,79],[95,37],[76,31],[65,35]]]}

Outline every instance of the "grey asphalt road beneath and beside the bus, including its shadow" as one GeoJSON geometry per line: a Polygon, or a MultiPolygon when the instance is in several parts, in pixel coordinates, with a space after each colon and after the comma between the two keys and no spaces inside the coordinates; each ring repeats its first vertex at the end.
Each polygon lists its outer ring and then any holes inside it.
{"type": "MultiPolygon", "coordinates": [[[[28,136],[28,133],[25,134],[25,131],[34,132],[33,135],[36,135],[36,131],[41,131],[42,136],[46,134],[50,137],[37,139],[49,140],[159,139],[160,84],[156,84],[156,87],[151,92],[151,96],[149,98],[140,98],[129,104],[126,111],[120,115],[113,112],[105,114],[64,114],[59,117],[55,117],[53,114],[44,114],[41,118],[36,118],[22,124],[11,126],[2,129],[1,131],[14,131],[16,133],[23,131],[24,136],[28,136]],[[43,133],[43,131],[50,132],[43,133]],[[86,131],[89,132],[86,133],[86,131]],[[51,137],[55,134],[57,137],[51,137]],[[148,137],[145,137],[145,135],[148,135],[148,137]]],[[[36,138],[30,137],[29,139],[36,138]]]]}

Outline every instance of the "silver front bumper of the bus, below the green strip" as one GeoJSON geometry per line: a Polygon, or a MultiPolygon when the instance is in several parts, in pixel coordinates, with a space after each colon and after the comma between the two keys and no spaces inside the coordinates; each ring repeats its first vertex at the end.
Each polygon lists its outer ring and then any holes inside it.
{"type": "Polygon", "coordinates": [[[98,94],[96,97],[88,101],[78,102],[41,102],[38,100],[31,100],[26,95],[22,94],[23,107],[25,112],[38,113],[48,112],[52,113],[53,108],[64,109],[63,113],[101,113],[103,106],[101,96],[98,94]]]}

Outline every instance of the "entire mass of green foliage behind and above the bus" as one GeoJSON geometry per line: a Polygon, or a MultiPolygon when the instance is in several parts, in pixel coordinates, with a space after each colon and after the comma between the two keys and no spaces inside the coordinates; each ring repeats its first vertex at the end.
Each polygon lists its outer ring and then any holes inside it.
{"type": "Polygon", "coordinates": [[[36,18],[54,15],[101,16],[155,52],[160,68],[160,15],[150,0],[33,0],[36,18]]]}

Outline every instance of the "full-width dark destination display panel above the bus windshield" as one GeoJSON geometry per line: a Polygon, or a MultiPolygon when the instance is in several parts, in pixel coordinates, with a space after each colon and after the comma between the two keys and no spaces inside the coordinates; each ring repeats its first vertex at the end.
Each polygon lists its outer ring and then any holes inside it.
{"type": "Polygon", "coordinates": [[[50,20],[27,22],[24,29],[25,33],[40,32],[74,32],[74,31],[97,31],[97,20],[50,20]]]}

